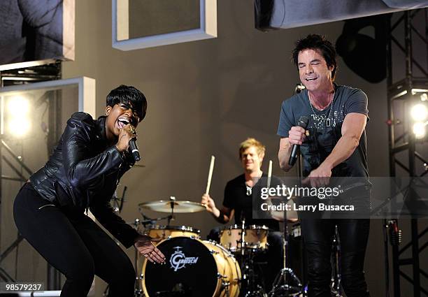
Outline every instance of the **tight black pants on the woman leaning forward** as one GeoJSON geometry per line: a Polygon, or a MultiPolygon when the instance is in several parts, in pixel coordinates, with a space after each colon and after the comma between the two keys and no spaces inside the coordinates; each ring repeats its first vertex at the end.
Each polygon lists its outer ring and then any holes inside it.
{"type": "Polygon", "coordinates": [[[22,236],[66,276],[61,296],[87,296],[94,275],[110,285],[109,296],[134,296],[136,275],[127,254],[83,212],[60,210],[27,183],[13,216],[22,236]]]}

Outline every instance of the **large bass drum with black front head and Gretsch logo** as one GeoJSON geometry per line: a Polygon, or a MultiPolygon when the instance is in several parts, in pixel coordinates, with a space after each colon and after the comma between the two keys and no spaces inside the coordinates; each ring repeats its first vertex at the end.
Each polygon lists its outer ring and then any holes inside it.
{"type": "Polygon", "coordinates": [[[166,265],[143,263],[145,296],[237,297],[241,269],[227,249],[216,242],[187,237],[156,245],[166,265]]]}

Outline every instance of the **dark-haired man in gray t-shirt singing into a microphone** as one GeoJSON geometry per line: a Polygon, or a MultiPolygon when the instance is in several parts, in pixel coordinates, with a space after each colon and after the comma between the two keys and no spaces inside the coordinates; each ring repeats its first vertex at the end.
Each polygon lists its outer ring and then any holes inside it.
{"type": "MultiPolygon", "coordinates": [[[[306,90],[283,102],[278,126],[280,167],[284,171],[292,168],[292,162],[289,164],[292,146],[300,145],[303,175],[309,178],[311,187],[331,186],[331,177],[345,177],[345,180],[352,177],[363,181],[348,184],[349,189],[356,189],[360,195],[356,200],[369,197],[364,132],[368,119],[366,94],[334,84],[336,50],[322,36],[308,35],[297,41],[292,59],[306,90]],[[308,117],[309,133],[298,125],[301,116],[308,117]]],[[[304,217],[301,232],[308,257],[308,296],[331,296],[331,238],[336,226],[341,242],[341,281],[345,294],[370,296],[363,272],[369,219],[304,217]]]]}

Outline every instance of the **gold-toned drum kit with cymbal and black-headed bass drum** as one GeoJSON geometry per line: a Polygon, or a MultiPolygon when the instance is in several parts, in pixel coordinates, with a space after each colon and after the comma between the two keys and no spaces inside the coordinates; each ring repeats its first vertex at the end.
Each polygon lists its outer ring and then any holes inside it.
{"type": "MultiPolygon", "coordinates": [[[[136,219],[134,226],[136,229],[143,226],[145,234],[160,239],[155,245],[166,256],[166,265],[151,263],[136,252],[136,296],[268,296],[260,284],[261,277],[255,275],[253,261],[254,256],[269,248],[266,226],[248,226],[243,222],[240,226],[225,227],[220,231],[220,243],[217,243],[213,240],[201,240],[199,229],[170,224],[176,213],[206,210],[201,203],[177,201],[171,197],[169,200],[140,203],[138,207],[143,220],[136,219]],[[150,219],[144,215],[145,210],[166,212],[169,215],[150,219]],[[164,219],[167,220],[166,225],[157,224],[164,219]]],[[[280,280],[277,281],[279,284],[280,280]]]]}

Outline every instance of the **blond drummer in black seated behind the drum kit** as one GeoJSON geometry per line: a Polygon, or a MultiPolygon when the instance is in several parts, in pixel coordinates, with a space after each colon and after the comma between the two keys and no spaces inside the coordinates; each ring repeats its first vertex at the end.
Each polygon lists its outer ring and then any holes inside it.
{"type": "MultiPolygon", "coordinates": [[[[264,289],[270,291],[273,280],[282,268],[281,259],[283,255],[283,245],[279,223],[274,219],[252,219],[252,189],[260,178],[267,178],[267,175],[260,169],[264,158],[266,147],[255,138],[248,138],[239,147],[239,159],[243,167],[243,174],[238,175],[233,180],[227,182],[224,188],[224,200],[222,208],[216,207],[213,198],[209,194],[202,196],[201,203],[206,205],[208,212],[211,212],[215,220],[222,224],[227,224],[235,217],[235,224],[241,226],[245,219],[245,226],[258,225],[268,226],[267,266],[262,268],[264,275],[264,289]]],[[[211,230],[208,239],[218,241],[220,227],[211,230]]]]}

